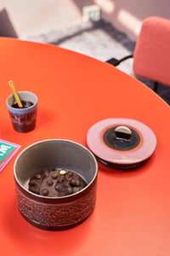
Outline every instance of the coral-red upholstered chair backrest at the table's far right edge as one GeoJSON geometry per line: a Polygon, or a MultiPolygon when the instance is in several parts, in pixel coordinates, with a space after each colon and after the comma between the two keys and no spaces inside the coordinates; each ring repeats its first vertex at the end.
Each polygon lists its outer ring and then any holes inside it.
{"type": "Polygon", "coordinates": [[[133,54],[133,73],[170,86],[170,20],[143,21],[133,54]]]}

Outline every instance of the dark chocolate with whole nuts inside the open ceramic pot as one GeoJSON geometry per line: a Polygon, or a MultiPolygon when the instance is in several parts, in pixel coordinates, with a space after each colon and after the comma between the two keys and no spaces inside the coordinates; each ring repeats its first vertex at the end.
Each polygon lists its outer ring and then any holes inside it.
{"type": "Polygon", "coordinates": [[[34,174],[29,182],[32,193],[57,197],[77,193],[87,183],[76,172],[62,170],[41,171],[34,174]]]}

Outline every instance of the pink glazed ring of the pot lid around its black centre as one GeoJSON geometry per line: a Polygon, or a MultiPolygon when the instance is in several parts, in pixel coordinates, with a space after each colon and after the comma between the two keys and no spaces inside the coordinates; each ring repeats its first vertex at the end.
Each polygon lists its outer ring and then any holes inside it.
{"type": "Polygon", "coordinates": [[[93,125],[87,135],[88,148],[101,160],[116,165],[135,165],[147,160],[156,148],[156,136],[147,125],[134,119],[104,119],[93,125]],[[104,133],[111,127],[130,128],[139,135],[137,146],[127,150],[109,147],[104,141],[104,133]]]}

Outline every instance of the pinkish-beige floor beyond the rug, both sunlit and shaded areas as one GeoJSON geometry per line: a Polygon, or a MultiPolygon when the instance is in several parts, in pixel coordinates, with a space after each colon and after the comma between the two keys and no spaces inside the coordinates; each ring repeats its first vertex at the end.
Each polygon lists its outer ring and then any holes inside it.
{"type": "MultiPolygon", "coordinates": [[[[0,11],[5,8],[19,37],[27,38],[77,26],[83,22],[82,8],[93,4],[99,6],[104,20],[132,40],[138,37],[145,18],[160,16],[170,19],[169,0],[0,0],[0,11]]],[[[4,23],[0,19],[0,25],[4,26],[4,23]]]]}

